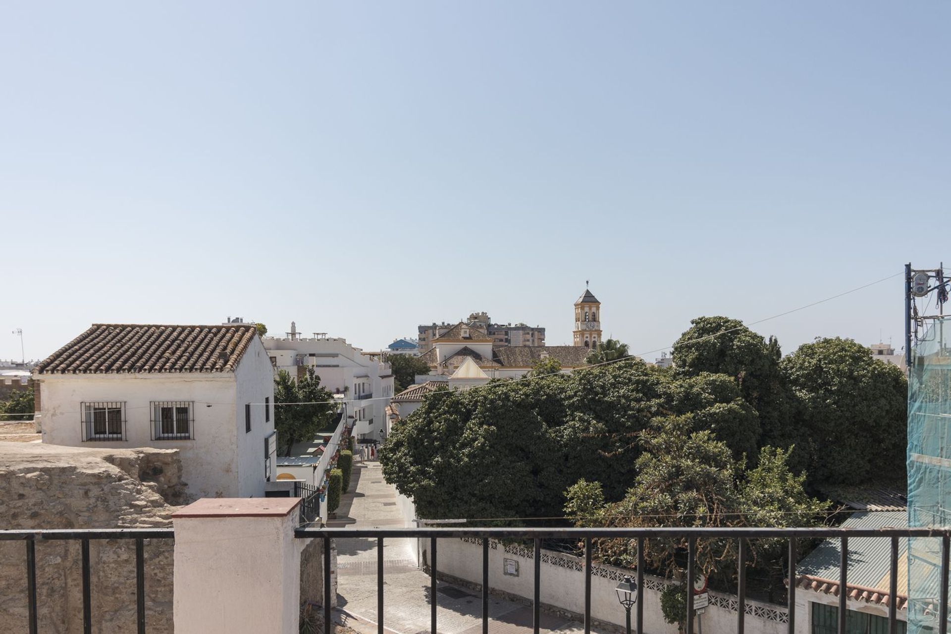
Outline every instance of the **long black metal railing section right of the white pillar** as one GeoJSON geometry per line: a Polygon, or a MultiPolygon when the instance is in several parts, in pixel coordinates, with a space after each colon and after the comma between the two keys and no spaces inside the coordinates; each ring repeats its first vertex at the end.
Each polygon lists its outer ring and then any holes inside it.
{"type": "MultiPolygon", "coordinates": [[[[584,544],[585,550],[585,634],[591,634],[591,590],[592,590],[592,540],[594,539],[631,539],[637,540],[637,615],[636,632],[643,632],[644,625],[644,546],[649,539],[686,537],[688,540],[688,579],[693,578],[696,571],[697,540],[712,538],[731,538],[737,540],[738,571],[737,571],[737,617],[736,631],[743,634],[747,614],[747,560],[748,541],[750,539],[785,539],[788,555],[788,588],[786,594],[787,631],[794,634],[796,627],[796,564],[799,555],[799,539],[835,538],[841,540],[840,555],[840,591],[839,617],[837,630],[839,634],[846,634],[845,617],[847,615],[846,587],[848,570],[848,538],[849,537],[880,537],[891,541],[891,571],[889,582],[888,601],[888,632],[897,634],[897,577],[899,566],[899,539],[907,537],[941,538],[941,598],[939,634],[948,634],[947,601],[949,582],[949,552],[951,552],[951,528],[297,528],[295,536],[299,538],[320,538],[324,548],[324,632],[333,631],[330,609],[330,579],[331,561],[330,548],[333,539],[347,538],[376,538],[377,541],[377,609],[378,632],[384,631],[383,618],[383,541],[385,538],[417,538],[430,540],[429,567],[430,567],[430,630],[437,634],[437,540],[448,538],[480,538],[482,546],[482,633],[489,631],[489,542],[490,539],[525,540],[534,542],[534,601],[533,601],[533,629],[540,629],[541,609],[541,540],[543,539],[572,539],[584,544]]],[[[693,592],[687,593],[687,634],[693,634],[693,592]]]]}

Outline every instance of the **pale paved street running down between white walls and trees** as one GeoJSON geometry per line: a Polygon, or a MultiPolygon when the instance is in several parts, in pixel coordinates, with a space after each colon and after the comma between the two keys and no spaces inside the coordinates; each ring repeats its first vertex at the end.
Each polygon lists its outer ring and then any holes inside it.
{"type": "MultiPolygon", "coordinates": [[[[404,526],[397,492],[383,481],[378,462],[355,465],[351,492],[340,500],[338,519],[329,527],[399,528],[404,526]]],[[[388,539],[383,548],[383,624],[392,634],[430,631],[430,577],[418,569],[414,542],[388,539]]],[[[377,632],[377,540],[341,539],[337,544],[339,570],[338,622],[359,632],[377,632]]],[[[444,634],[480,634],[482,599],[477,591],[439,582],[438,631],[444,634]]],[[[532,607],[490,597],[489,631],[494,634],[532,632],[532,607]]],[[[545,631],[583,632],[582,624],[542,613],[545,631]]]]}

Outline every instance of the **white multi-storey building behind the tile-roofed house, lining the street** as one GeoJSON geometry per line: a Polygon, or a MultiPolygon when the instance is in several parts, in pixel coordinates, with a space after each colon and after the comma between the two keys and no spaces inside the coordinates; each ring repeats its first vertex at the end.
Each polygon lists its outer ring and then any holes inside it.
{"type": "Polygon", "coordinates": [[[335,394],[343,394],[347,415],[356,426],[354,436],[381,440],[386,431],[386,406],[393,397],[393,373],[390,364],[379,355],[367,355],[340,337],[325,333],[303,337],[297,324],[284,337],[265,336],[264,348],[274,373],[286,370],[297,378],[314,368],[320,384],[335,394]]]}

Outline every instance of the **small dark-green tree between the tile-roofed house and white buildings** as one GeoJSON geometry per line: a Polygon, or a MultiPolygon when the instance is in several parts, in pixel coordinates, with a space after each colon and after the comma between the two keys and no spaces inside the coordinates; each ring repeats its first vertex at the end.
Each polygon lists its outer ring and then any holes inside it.
{"type": "Polygon", "coordinates": [[[339,408],[334,395],[320,385],[314,368],[307,368],[296,381],[281,370],[274,379],[274,406],[274,429],[284,455],[291,455],[294,445],[312,440],[326,429],[339,408]]]}

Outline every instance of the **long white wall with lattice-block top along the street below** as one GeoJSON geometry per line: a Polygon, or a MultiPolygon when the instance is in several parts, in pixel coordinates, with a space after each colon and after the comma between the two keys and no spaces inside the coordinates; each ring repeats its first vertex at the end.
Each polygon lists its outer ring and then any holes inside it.
{"type": "MultiPolygon", "coordinates": [[[[482,583],[482,547],[478,539],[440,539],[437,543],[437,571],[471,584],[482,583]]],[[[429,540],[421,540],[422,557],[429,558],[429,540]]],[[[633,570],[620,567],[592,567],[592,618],[623,626],[624,608],[618,604],[614,588],[633,570]]],[[[646,575],[644,579],[644,631],[650,634],[677,634],[677,626],[664,621],[660,594],[667,582],[646,575]]],[[[534,553],[531,548],[490,542],[489,586],[493,590],[531,600],[534,597],[534,553]],[[506,561],[508,560],[508,561],[506,561]],[[512,574],[516,572],[516,574],[512,574]]],[[[541,603],[559,610],[584,614],[584,560],[543,549],[541,552],[541,603]]],[[[710,604],[700,617],[704,634],[736,631],[735,596],[709,593],[710,604]]],[[[747,599],[746,631],[749,634],[785,634],[788,614],[781,605],[747,599]]],[[[797,622],[798,624],[798,622],[797,622]]],[[[805,632],[805,624],[801,625],[805,632]]],[[[696,631],[696,630],[695,630],[696,631]]]]}

